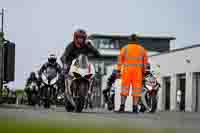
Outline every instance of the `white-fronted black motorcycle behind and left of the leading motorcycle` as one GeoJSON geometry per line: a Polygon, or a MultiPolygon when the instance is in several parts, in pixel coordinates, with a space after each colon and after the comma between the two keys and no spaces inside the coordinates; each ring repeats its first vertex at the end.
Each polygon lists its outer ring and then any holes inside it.
{"type": "Polygon", "coordinates": [[[44,108],[50,108],[51,103],[56,102],[59,74],[54,68],[47,68],[41,77],[40,102],[43,103],[44,108]]]}

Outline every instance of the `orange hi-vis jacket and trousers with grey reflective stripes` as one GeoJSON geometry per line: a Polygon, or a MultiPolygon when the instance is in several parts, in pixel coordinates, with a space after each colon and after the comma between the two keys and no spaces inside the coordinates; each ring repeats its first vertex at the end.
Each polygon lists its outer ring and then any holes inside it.
{"type": "Polygon", "coordinates": [[[145,67],[148,62],[147,51],[139,44],[128,44],[119,55],[118,70],[122,75],[121,95],[128,96],[132,85],[132,96],[142,95],[145,67]]]}

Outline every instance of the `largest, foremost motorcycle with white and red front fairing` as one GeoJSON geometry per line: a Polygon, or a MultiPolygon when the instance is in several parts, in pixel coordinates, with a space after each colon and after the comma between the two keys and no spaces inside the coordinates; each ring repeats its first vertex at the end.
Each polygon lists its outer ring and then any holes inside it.
{"type": "Polygon", "coordinates": [[[95,75],[94,66],[88,62],[86,55],[72,61],[69,70],[69,77],[66,82],[65,108],[68,112],[82,112],[86,100],[92,97],[93,78],[95,75]]]}

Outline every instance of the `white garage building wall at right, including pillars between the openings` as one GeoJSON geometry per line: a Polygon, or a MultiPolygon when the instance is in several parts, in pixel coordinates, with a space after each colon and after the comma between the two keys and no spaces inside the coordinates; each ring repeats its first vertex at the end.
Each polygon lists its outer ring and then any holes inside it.
{"type": "MultiPolygon", "coordinates": [[[[186,74],[186,111],[194,110],[194,100],[193,97],[193,76],[192,72],[200,72],[200,61],[199,61],[200,47],[194,47],[190,49],[185,49],[181,51],[175,51],[171,53],[161,54],[157,56],[151,56],[149,58],[150,63],[154,65],[160,65],[160,82],[162,84],[162,77],[171,76],[171,110],[176,110],[176,89],[177,89],[177,78],[176,74],[185,73],[186,74]],[[187,63],[186,60],[190,60],[190,63],[187,63]]],[[[162,85],[163,86],[163,85],[162,85]]],[[[163,88],[163,87],[162,87],[163,88]]],[[[164,102],[162,101],[165,96],[161,88],[159,92],[159,110],[163,110],[164,102]]]]}

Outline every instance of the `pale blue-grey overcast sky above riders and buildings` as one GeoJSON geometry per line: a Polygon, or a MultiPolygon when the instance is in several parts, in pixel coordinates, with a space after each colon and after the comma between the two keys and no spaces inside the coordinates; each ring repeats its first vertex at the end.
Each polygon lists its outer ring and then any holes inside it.
{"type": "Polygon", "coordinates": [[[77,27],[89,33],[174,36],[176,48],[200,43],[199,0],[0,0],[6,38],[16,43],[16,81],[60,56],[77,27]]]}

